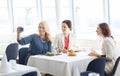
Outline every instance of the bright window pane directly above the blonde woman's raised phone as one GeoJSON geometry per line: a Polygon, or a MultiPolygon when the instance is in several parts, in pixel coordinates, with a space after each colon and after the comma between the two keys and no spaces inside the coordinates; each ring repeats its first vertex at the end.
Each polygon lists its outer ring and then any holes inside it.
{"type": "Polygon", "coordinates": [[[25,32],[35,31],[38,19],[36,0],[13,0],[13,21],[15,27],[23,26],[25,32]]]}

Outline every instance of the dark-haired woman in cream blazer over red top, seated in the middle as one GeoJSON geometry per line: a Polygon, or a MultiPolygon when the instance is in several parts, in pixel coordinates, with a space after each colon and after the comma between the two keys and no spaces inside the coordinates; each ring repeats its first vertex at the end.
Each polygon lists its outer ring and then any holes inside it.
{"type": "Polygon", "coordinates": [[[57,34],[53,43],[53,48],[56,51],[66,53],[67,50],[76,50],[76,37],[71,33],[72,23],[70,20],[62,22],[62,33],[57,34]]]}

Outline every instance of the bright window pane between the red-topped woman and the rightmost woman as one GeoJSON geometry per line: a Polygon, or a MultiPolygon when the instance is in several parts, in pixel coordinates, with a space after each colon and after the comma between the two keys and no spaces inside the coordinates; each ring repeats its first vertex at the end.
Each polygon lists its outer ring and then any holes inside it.
{"type": "Polygon", "coordinates": [[[74,0],[75,33],[95,37],[97,25],[105,21],[103,8],[103,0],[74,0]]]}

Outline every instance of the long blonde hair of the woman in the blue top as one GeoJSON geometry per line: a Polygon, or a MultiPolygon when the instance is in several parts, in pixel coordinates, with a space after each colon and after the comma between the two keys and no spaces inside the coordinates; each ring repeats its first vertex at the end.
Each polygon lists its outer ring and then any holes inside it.
{"type": "Polygon", "coordinates": [[[45,30],[45,39],[52,43],[51,41],[51,35],[50,35],[50,29],[46,21],[41,21],[38,26],[43,25],[45,30]]]}

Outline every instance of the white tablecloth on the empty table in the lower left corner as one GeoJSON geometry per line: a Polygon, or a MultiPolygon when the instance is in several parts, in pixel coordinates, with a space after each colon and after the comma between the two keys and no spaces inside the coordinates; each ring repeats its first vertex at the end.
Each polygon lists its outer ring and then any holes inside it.
{"type": "Polygon", "coordinates": [[[23,74],[31,71],[37,71],[38,76],[41,76],[37,68],[19,64],[16,64],[16,67],[8,73],[0,73],[0,76],[22,76],[23,74]]]}

